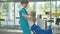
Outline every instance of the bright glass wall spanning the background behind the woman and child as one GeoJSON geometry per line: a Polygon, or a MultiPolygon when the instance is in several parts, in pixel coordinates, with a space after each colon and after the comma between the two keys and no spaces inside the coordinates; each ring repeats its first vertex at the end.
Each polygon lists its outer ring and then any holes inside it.
{"type": "MultiPolygon", "coordinates": [[[[0,27],[19,25],[19,10],[21,6],[20,2],[0,2],[0,27]]],[[[42,19],[47,18],[47,20],[50,20],[50,14],[48,13],[52,12],[51,16],[54,20],[53,23],[55,23],[56,15],[57,18],[60,18],[60,1],[57,1],[57,4],[55,1],[52,1],[51,4],[50,1],[30,2],[27,10],[28,13],[31,10],[35,10],[36,15],[42,15],[42,19]]]]}

